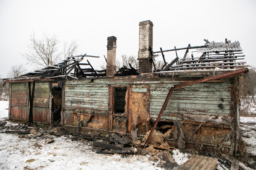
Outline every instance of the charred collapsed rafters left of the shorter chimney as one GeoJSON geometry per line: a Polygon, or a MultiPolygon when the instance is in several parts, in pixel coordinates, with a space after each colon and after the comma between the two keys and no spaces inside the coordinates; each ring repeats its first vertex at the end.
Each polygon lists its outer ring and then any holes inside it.
{"type": "Polygon", "coordinates": [[[49,65],[46,68],[35,70],[32,73],[18,76],[13,79],[13,81],[21,81],[26,79],[52,79],[58,77],[78,79],[78,77],[99,77],[106,75],[106,70],[94,70],[93,66],[88,60],[87,63],[81,63],[84,57],[99,58],[98,56],[89,56],[86,54],[80,56],[70,56],[61,63],[49,65]]]}

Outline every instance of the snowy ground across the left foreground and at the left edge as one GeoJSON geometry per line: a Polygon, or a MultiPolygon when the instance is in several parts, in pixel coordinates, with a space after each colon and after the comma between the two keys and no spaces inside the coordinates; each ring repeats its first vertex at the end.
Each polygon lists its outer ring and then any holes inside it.
{"type": "MultiPolygon", "coordinates": [[[[0,101],[0,119],[8,117],[8,102],[0,101]]],[[[12,124],[8,122],[8,124],[12,124]]],[[[157,163],[141,155],[97,154],[90,142],[71,141],[57,137],[51,144],[46,139],[19,138],[17,134],[0,133],[0,169],[104,169],[104,170],[162,170],[157,163]]]]}

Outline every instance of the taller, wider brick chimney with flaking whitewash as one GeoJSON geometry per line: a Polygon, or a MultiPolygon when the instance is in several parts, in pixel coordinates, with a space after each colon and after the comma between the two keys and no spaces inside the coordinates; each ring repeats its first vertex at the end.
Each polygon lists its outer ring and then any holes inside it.
{"type": "Polygon", "coordinates": [[[149,46],[153,48],[153,23],[150,20],[140,22],[139,35],[139,73],[152,72],[152,58],[150,56],[149,46]]]}

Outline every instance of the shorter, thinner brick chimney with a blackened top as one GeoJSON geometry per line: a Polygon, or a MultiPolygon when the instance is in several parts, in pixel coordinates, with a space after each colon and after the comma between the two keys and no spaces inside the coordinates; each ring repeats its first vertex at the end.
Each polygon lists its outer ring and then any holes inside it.
{"type": "Polygon", "coordinates": [[[116,37],[108,37],[107,45],[107,70],[106,76],[114,76],[116,73],[116,37]]]}

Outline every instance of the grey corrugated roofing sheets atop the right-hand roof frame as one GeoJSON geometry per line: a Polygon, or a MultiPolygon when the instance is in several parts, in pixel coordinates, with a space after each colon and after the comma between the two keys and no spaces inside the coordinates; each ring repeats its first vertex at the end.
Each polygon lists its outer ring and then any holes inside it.
{"type": "Polygon", "coordinates": [[[240,47],[240,43],[238,41],[232,43],[223,43],[223,42],[211,42],[207,43],[207,48],[199,48],[198,53],[204,52],[214,52],[214,51],[242,51],[243,49],[240,47]]]}

